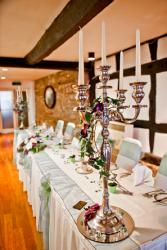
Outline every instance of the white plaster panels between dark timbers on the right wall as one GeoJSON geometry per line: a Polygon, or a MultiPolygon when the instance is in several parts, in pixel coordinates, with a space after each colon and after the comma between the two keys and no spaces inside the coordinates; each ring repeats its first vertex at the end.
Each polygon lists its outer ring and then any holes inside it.
{"type": "MultiPolygon", "coordinates": [[[[158,49],[157,49],[157,59],[162,59],[167,57],[167,37],[161,38],[158,40],[158,49]]],[[[144,44],[141,46],[141,63],[148,63],[151,61],[149,46],[144,44]]],[[[115,56],[109,60],[108,63],[111,64],[111,72],[116,71],[116,60],[115,56]]],[[[100,65],[100,61],[96,62],[95,67],[100,65]]],[[[124,69],[135,66],[135,48],[127,50],[124,52],[124,69]]],[[[98,72],[99,75],[99,72],[98,72]]],[[[150,76],[142,76],[142,80],[147,82],[147,85],[144,87],[145,97],[142,104],[146,104],[148,107],[143,108],[138,117],[139,120],[149,120],[149,93],[151,90],[151,79],[150,76]]],[[[130,82],[135,81],[134,76],[124,77],[124,88],[127,89],[126,93],[126,104],[132,105],[134,101],[131,98],[132,88],[129,86],[130,82]]],[[[118,80],[109,81],[108,85],[112,85],[112,91],[108,91],[109,95],[113,95],[114,91],[118,86],[118,80]]],[[[101,83],[97,84],[101,86],[101,83]]],[[[102,90],[96,89],[96,96],[102,95],[102,90]]],[[[156,75],[156,118],[155,122],[167,123],[167,72],[162,72],[156,75]]],[[[133,116],[133,109],[124,111],[126,117],[133,116]]],[[[134,128],[134,138],[139,139],[143,145],[143,151],[150,152],[149,145],[149,129],[144,128],[134,128]]],[[[154,139],[154,149],[153,153],[159,156],[162,156],[167,152],[167,134],[156,133],[154,139]]]]}

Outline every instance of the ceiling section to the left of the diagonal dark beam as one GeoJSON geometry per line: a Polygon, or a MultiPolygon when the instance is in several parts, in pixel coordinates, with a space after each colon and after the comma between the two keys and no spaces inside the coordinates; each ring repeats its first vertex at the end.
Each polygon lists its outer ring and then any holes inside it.
{"type": "Polygon", "coordinates": [[[24,57],[69,0],[0,0],[0,56],[24,57]]]}

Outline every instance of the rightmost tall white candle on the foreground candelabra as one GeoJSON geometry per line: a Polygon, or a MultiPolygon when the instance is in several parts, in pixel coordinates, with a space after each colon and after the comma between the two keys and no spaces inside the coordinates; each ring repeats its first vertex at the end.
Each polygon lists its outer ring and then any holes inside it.
{"type": "Polygon", "coordinates": [[[140,31],[136,30],[136,78],[141,78],[141,62],[140,62],[140,31]]]}

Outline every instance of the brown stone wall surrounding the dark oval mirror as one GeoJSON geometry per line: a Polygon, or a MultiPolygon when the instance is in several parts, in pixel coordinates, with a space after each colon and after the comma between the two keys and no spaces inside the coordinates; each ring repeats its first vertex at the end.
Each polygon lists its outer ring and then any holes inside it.
{"type": "Polygon", "coordinates": [[[55,126],[57,120],[79,123],[79,116],[73,108],[77,106],[72,85],[77,82],[76,71],[59,71],[35,81],[36,122],[55,126]],[[51,85],[56,91],[56,105],[49,109],[44,102],[45,88],[51,85]]]}

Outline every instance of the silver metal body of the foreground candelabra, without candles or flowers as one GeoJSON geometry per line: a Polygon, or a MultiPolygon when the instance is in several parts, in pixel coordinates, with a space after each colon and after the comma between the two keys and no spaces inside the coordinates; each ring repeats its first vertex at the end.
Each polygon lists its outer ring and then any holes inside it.
{"type": "MultiPolygon", "coordinates": [[[[134,222],[131,216],[121,208],[110,206],[109,204],[109,192],[108,192],[108,176],[110,172],[110,162],[111,162],[111,147],[109,144],[109,122],[110,121],[121,121],[124,123],[133,123],[136,121],[140,110],[146,105],[141,105],[141,101],[144,97],[143,87],[146,82],[133,82],[130,86],[133,87],[132,98],[135,101],[134,117],[125,118],[123,115],[123,110],[130,108],[130,106],[125,105],[126,97],[125,93],[127,90],[119,89],[117,90],[117,103],[112,105],[108,104],[107,101],[107,82],[109,80],[108,70],[110,66],[105,65],[100,67],[103,89],[103,111],[100,117],[102,124],[102,137],[103,142],[101,146],[101,157],[105,159],[104,171],[107,173],[103,176],[103,198],[100,209],[96,212],[94,218],[88,221],[85,225],[81,223],[84,220],[84,213],[82,212],[78,217],[77,225],[80,232],[87,238],[98,241],[98,242],[116,242],[127,238],[133,231],[134,222]]],[[[77,111],[85,112],[87,109],[86,101],[88,99],[89,85],[78,85],[78,102],[79,106],[76,108],[77,111]]]]}

